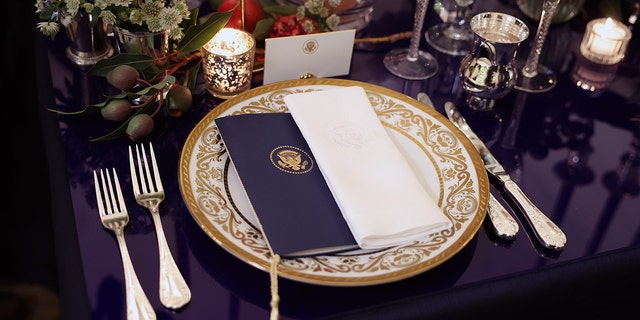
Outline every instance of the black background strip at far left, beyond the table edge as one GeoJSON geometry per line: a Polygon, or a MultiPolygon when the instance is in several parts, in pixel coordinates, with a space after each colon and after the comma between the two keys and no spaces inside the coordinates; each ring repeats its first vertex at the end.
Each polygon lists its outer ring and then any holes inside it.
{"type": "MultiPolygon", "coordinates": [[[[0,319],[59,319],[49,179],[36,85],[35,1],[3,3],[0,319]],[[7,8],[8,7],[8,8],[7,8]],[[9,205],[6,205],[9,204],[9,205]]],[[[45,53],[46,54],[46,53],[45,53]]]]}

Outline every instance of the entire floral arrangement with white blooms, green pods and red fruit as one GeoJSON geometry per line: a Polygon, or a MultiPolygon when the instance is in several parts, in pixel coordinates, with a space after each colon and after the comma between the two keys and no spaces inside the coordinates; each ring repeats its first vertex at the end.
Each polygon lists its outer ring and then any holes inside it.
{"type": "MultiPolygon", "coordinates": [[[[164,56],[120,53],[98,61],[88,73],[106,77],[118,92],[80,111],[51,111],[63,115],[100,112],[105,119],[119,123],[115,130],[94,141],[123,136],[141,139],[152,132],[158,113],[179,117],[188,111],[201,66],[200,48],[225,26],[246,30],[242,13],[248,13],[248,6],[257,10],[252,34],[260,43],[267,37],[334,30],[339,23],[334,9],[341,2],[307,0],[301,6],[286,6],[275,0],[208,1],[214,12],[200,17],[199,8],[189,9],[185,0],[36,0],[36,12],[43,20],[37,28],[52,38],[60,25],[68,25],[82,10],[92,16],[91,21],[101,19],[130,31],[169,30],[172,40],[164,56]],[[240,24],[233,25],[238,24],[235,21],[240,24]]],[[[261,61],[256,65],[260,68],[261,61]]]]}

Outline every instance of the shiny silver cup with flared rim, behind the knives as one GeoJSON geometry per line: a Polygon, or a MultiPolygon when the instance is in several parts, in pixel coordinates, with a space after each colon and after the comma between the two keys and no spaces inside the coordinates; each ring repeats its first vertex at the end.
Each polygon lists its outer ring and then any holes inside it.
{"type": "Polygon", "coordinates": [[[474,42],[460,62],[459,76],[475,110],[491,110],[495,99],[506,96],[517,77],[515,57],[529,28],[520,19],[500,12],[483,12],[471,18],[474,42]]]}

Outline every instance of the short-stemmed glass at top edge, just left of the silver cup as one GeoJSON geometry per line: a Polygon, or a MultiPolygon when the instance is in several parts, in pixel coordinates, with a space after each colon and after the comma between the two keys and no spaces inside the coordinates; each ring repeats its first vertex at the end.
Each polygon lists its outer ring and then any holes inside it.
{"type": "Polygon", "coordinates": [[[473,45],[473,31],[469,27],[474,0],[436,0],[434,10],[442,19],[425,32],[434,49],[452,56],[463,56],[473,45]]]}

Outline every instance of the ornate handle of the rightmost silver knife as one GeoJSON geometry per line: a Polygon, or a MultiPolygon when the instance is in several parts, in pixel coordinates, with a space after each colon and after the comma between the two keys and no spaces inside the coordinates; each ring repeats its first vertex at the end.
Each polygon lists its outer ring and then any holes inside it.
{"type": "Polygon", "coordinates": [[[504,181],[504,189],[522,210],[542,245],[551,250],[562,250],[567,242],[564,232],[529,200],[513,180],[504,181]]]}

